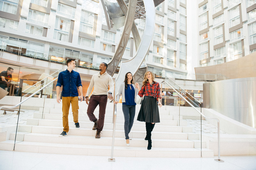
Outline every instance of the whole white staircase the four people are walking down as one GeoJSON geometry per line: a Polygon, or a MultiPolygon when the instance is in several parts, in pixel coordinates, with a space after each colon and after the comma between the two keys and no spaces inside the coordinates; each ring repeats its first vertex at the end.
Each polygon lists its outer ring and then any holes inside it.
{"type": "MultiPolygon", "coordinates": [[[[27,120],[27,125],[19,125],[16,137],[15,151],[57,153],[74,155],[110,156],[113,135],[113,103],[107,104],[105,123],[101,138],[95,139],[96,131],[92,130],[93,122],[87,116],[87,104],[79,102],[79,124],[76,130],[72,111],[69,111],[68,136],[59,137],[62,127],[62,105],[52,100],[46,104],[44,114],[34,113],[32,119],[27,120]],[[43,119],[42,119],[43,117],[43,119]]],[[[168,107],[168,106],[167,106],[168,107]]],[[[169,106],[171,107],[171,106],[169,106]]],[[[71,109],[71,107],[70,107],[71,109]]],[[[148,141],[144,140],[146,128],[144,122],[137,121],[140,105],[136,106],[136,115],[132,130],[129,134],[130,146],[126,146],[124,138],[124,115],[122,104],[117,104],[116,134],[114,156],[125,157],[201,157],[201,140],[199,135],[192,133],[192,127],[187,127],[187,122],[172,115],[172,111],[160,108],[160,123],[155,125],[152,132],[152,149],[147,150],[148,141]]],[[[42,112],[40,108],[39,112],[42,112]]],[[[94,112],[98,118],[99,108],[94,112]]],[[[1,150],[13,150],[15,132],[10,134],[10,140],[0,142],[1,150]]],[[[205,148],[202,142],[202,157],[213,157],[213,151],[205,148]]]]}

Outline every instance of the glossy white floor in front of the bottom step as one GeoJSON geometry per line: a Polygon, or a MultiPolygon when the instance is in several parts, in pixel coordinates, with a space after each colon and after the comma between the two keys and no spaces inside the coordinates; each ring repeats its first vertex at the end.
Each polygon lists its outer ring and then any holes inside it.
{"type": "Polygon", "coordinates": [[[221,156],[214,158],[131,158],[116,157],[108,162],[105,156],[61,155],[0,150],[1,170],[256,170],[256,155],[221,156]]]}

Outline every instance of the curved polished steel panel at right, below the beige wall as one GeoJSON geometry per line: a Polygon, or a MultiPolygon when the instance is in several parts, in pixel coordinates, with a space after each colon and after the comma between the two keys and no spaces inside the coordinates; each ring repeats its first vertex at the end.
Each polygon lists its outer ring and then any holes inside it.
{"type": "Polygon", "coordinates": [[[256,128],[256,77],[204,83],[204,106],[256,128]],[[209,89],[207,87],[209,86],[209,89]]]}

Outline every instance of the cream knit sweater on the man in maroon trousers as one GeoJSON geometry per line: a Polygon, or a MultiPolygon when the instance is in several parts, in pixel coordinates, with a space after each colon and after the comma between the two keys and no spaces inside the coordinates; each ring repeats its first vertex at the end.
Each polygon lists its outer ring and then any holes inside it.
{"type": "Polygon", "coordinates": [[[94,89],[93,89],[92,95],[108,95],[108,85],[109,85],[109,92],[113,92],[114,91],[113,79],[107,72],[105,72],[102,75],[100,75],[100,72],[98,74],[92,75],[92,80],[87,89],[87,93],[85,97],[90,95],[90,93],[92,92],[93,86],[94,86],[94,89]]]}

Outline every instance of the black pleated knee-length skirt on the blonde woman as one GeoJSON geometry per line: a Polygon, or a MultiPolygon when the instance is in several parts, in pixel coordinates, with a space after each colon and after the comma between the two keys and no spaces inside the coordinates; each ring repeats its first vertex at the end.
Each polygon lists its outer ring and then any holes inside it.
{"type": "Polygon", "coordinates": [[[153,96],[144,96],[140,106],[140,112],[137,118],[140,122],[159,123],[159,110],[156,98],[153,96]]]}

